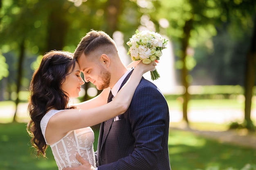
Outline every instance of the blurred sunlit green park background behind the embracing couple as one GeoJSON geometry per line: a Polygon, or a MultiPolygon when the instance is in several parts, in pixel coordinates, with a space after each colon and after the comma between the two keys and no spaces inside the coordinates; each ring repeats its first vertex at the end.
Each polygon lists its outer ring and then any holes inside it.
{"type": "MultiPolygon", "coordinates": [[[[74,52],[91,29],[105,31],[115,40],[126,65],[131,62],[126,42],[136,29],[155,31],[168,40],[156,67],[161,77],[155,81],[149,73],[144,77],[159,87],[170,108],[172,169],[240,170],[248,163],[253,169],[255,148],[227,149],[229,145],[212,144],[187,131],[232,129],[255,137],[255,0],[0,0],[1,170],[56,169],[51,152],[48,159],[38,160],[29,149],[25,131],[29,83],[44,53],[74,52]],[[189,154],[173,151],[180,145],[189,154]],[[209,157],[189,150],[219,145],[225,148],[223,153],[209,157]],[[240,153],[246,153],[244,161],[231,159],[240,153]]],[[[83,89],[71,102],[100,93],[90,83],[83,89]]],[[[98,128],[94,127],[96,137],[98,128]]],[[[96,149],[97,139],[95,144],[96,149]]]]}

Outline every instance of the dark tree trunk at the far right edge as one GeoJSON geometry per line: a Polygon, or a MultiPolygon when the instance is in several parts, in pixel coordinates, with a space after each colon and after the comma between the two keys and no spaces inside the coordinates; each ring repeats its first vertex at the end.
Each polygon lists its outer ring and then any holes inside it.
{"type": "Polygon", "coordinates": [[[246,57],[245,66],[245,128],[248,130],[254,130],[254,125],[251,119],[251,106],[252,106],[252,94],[253,87],[255,85],[255,73],[256,73],[256,20],[254,22],[254,31],[251,41],[251,46],[246,57]]]}

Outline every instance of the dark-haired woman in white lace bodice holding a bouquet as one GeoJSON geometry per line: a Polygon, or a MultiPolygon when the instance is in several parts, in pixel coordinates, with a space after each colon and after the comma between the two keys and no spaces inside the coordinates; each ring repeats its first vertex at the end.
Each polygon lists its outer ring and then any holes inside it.
{"type": "Polygon", "coordinates": [[[27,124],[27,132],[32,137],[31,144],[37,155],[45,157],[49,145],[59,170],[81,165],[76,159],[77,154],[95,168],[94,132],[90,126],[124,113],[142,75],[155,68],[154,65],[139,62],[126,85],[108,104],[110,88],[91,100],[68,106],[69,99],[78,97],[81,85],[85,83],[80,76],[79,64],[72,53],[46,53],[29,88],[31,120],[27,124]]]}

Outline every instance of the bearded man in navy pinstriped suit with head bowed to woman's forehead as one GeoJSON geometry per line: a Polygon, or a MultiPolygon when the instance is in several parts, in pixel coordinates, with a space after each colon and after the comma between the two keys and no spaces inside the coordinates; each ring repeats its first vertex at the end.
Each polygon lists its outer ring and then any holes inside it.
{"type": "MultiPolygon", "coordinates": [[[[110,101],[130,77],[114,40],[90,31],[76,48],[86,82],[111,88],[110,101]],[[112,93],[112,94],[111,94],[112,93]]],[[[96,170],[171,170],[168,155],[169,112],[158,88],[142,78],[128,110],[101,123],[96,170]]],[[[85,165],[70,170],[87,170],[85,165]]]]}

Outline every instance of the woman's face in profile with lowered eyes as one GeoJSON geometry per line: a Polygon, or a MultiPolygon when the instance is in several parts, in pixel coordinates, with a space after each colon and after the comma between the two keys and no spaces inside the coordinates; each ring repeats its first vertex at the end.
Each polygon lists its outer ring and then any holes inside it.
{"type": "Polygon", "coordinates": [[[65,77],[61,89],[67,93],[68,97],[79,97],[81,85],[85,84],[81,77],[79,64],[76,62],[74,70],[65,77]]]}

